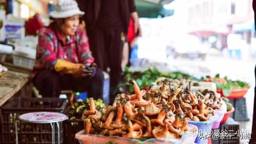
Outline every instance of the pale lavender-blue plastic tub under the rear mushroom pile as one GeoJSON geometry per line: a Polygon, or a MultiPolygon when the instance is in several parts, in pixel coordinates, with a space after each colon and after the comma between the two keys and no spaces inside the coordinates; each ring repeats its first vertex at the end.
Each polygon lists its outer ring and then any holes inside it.
{"type": "Polygon", "coordinates": [[[204,121],[204,122],[196,122],[196,121],[192,121],[192,120],[189,120],[188,121],[188,124],[193,124],[193,125],[196,125],[198,127],[198,131],[200,133],[198,133],[198,137],[196,138],[195,140],[195,143],[197,144],[207,144],[208,143],[208,139],[199,139],[199,136],[206,136],[207,132],[209,130],[212,130],[212,125],[213,123],[218,120],[219,116],[216,114],[212,117],[209,118],[209,120],[207,121],[204,121]]]}

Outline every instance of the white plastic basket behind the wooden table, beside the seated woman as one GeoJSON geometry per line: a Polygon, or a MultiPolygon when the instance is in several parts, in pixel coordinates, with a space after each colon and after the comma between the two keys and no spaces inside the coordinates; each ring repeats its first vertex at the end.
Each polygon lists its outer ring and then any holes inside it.
{"type": "Polygon", "coordinates": [[[34,67],[34,63],[34,59],[13,55],[14,66],[20,66],[32,70],[34,67]]]}

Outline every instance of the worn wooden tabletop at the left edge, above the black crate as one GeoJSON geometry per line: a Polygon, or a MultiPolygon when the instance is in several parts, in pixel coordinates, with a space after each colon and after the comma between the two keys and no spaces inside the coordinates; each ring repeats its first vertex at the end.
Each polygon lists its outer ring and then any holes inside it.
{"type": "Polygon", "coordinates": [[[0,77],[0,106],[28,82],[28,74],[7,71],[0,77]]]}

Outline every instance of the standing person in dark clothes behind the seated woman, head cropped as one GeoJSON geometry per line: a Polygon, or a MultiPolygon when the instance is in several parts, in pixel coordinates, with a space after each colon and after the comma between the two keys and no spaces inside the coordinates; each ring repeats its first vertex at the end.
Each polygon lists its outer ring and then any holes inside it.
{"type": "Polygon", "coordinates": [[[122,49],[130,17],[134,21],[135,33],[140,32],[134,0],[77,2],[80,9],[86,12],[82,20],[86,23],[86,32],[95,62],[102,70],[110,68],[110,102],[113,102],[113,92],[121,81],[122,49]]]}

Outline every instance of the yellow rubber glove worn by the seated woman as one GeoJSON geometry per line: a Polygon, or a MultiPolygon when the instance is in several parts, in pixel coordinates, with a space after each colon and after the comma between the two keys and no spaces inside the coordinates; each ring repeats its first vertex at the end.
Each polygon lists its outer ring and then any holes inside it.
{"type": "Polygon", "coordinates": [[[54,69],[56,70],[56,72],[72,74],[73,76],[78,77],[82,75],[81,66],[83,66],[83,64],[75,64],[66,60],[59,59],[57,60],[54,69]]]}

